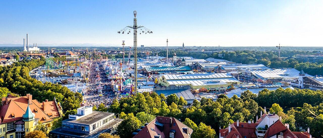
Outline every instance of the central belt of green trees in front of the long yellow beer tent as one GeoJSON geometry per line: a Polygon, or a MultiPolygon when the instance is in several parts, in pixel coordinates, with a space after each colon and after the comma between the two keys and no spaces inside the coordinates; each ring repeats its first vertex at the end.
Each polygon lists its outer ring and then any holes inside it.
{"type": "Polygon", "coordinates": [[[194,138],[201,136],[203,132],[207,134],[206,131],[209,130],[219,131],[219,127],[225,128],[235,120],[254,120],[260,111],[264,112],[255,100],[241,99],[237,96],[220,96],[217,101],[202,98],[201,102],[194,100],[193,106],[189,108],[183,108],[184,105],[187,105],[187,102],[174,94],[165,97],[163,94],[143,92],[133,97],[122,98],[120,101],[114,100],[108,111],[120,113],[120,118],[124,119],[118,126],[121,138],[129,137],[132,132],[156,116],[172,116],[182,121],[189,118],[194,124],[199,124],[193,128],[196,130],[196,134],[192,135],[194,138]]]}

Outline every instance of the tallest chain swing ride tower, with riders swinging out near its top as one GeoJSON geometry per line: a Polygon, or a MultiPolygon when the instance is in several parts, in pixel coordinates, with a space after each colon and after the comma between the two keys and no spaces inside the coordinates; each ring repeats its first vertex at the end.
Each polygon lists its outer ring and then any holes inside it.
{"type": "Polygon", "coordinates": [[[129,34],[131,32],[131,30],[133,29],[133,58],[134,58],[134,94],[137,95],[137,30],[139,29],[139,34],[144,33],[152,33],[151,30],[147,29],[144,26],[138,26],[137,25],[137,11],[133,11],[133,26],[126,26],[125,28],[123,28],[122,30],[118,31],[118,33],[127,33],[129,34]]]}

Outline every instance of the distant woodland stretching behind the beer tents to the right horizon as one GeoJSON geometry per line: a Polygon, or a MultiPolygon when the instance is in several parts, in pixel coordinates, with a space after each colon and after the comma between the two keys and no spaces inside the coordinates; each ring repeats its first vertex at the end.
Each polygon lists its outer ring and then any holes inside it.
{"type": "MultiPolygon", "coordinates": [[[[263,64],[271,68],[296,68],[297,70],[303,69],[310,75],[323,75],[323,63],[299,63],[296,59],[292,58],[296,55],[311,55],[316,54],[318,51],[281,51],[280,55],[287,58],[278,58],[278,52],[275,51],[221,51],[211,54],[203,54],[202,52],[188,53],[180,49],[171,49],[168,56],[172,57],[173,53],[177,56],[193,56],[194,58],[206,59],[209,57],[225,59],[242,64],[263,64]],[[223,57],[219,57],[222,54],[223,57]]],[[[161,50],[158,55],[166,56],[166,51],[161,50]]]]}

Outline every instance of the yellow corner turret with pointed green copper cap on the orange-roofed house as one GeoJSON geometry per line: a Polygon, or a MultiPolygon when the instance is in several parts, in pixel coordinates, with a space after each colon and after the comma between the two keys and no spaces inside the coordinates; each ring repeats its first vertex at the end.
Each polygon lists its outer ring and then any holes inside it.
{"type": "Polygon", "coordinates": [[[34,120],[35,114],[31,112],[29,108],[29,101],[28,106],[26,109],[26,113],[22,115],[22,121],[25,122],[25,134],[34,131],[34,120]]]}

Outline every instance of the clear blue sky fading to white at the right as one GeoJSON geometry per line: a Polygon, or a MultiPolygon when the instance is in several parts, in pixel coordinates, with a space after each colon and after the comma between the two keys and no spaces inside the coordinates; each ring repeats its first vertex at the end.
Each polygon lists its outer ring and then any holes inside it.
{"type": "Polygon", "coordinates": [[[323,1],[0,1],[0,44],[126,46],[133,24],[153,34],[138,45],[323,46],[323,1]]]}

